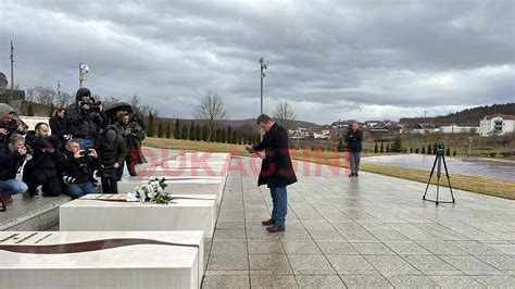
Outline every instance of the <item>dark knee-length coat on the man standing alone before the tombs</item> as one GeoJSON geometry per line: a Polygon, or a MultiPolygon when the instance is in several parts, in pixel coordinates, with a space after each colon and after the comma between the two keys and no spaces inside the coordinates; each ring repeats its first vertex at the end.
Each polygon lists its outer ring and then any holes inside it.
{"type": "Polygon", "coordinates": [[[254,146],[254,151],[266,152],[261,163],[258,186],[268,185],[268,188],[286,187],[297,181],[288,150],[288,133],[277,123],[263,136],[263,141],[254,146]]]}

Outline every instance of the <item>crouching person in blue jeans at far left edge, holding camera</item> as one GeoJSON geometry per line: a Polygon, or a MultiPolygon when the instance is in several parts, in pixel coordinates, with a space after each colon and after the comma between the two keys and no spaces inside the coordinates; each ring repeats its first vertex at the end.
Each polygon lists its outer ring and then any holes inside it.
{"type": "Polygon", "coordinates": [[[28,162],[32,158],[22,135],[13,134],[9,142],[0,143],[0,198],[3,204],[12,203],[12,194],[27,191],[27,185],[16,179],[16,174],[24,160],[28,162]]]}

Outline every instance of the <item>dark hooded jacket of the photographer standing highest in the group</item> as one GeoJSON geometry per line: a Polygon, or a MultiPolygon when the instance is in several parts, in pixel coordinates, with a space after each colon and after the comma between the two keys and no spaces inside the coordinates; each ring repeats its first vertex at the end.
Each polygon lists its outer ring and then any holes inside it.
{"type": "Polygon", "coordinates": [[[77,90],[75,103],[66,108],[66,121],[68,122],[70,134],[74,138],[97,138],[102,126],[102,116],[95,115],[90,110],[86,111],[79,106],[83,96],[89,92],[87,88],[77,90]]]}

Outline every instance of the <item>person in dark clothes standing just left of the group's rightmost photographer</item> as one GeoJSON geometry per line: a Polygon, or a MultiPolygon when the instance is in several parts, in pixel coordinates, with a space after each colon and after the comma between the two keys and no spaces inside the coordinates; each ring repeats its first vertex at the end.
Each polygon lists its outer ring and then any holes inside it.
{"type": "Polygon", "coordinates": [[[114,126],[108,126],[95,142],[95,150],[100,154],[102,169],[103,193],[118,193],[116,174],[124,164],[126,152],[125,139],[120,136],[114,126]]]}

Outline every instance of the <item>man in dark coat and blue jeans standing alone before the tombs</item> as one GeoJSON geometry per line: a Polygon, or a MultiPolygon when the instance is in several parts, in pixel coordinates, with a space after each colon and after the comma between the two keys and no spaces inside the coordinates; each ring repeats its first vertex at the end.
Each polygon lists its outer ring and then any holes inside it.
{"type": "Polygon", "coordinates": [[[258,186],[267,185],[271,190],[272,217],[262,224],[271,226],[266,228],[271,233],[284,231],[288,212],[286,186],[297,181],[288,150],[288,133],[266,114],[260,115],[256,123],[265,133],[263,141],[246,149],[263,160],[258,186]]]}

